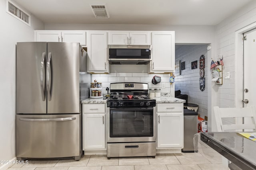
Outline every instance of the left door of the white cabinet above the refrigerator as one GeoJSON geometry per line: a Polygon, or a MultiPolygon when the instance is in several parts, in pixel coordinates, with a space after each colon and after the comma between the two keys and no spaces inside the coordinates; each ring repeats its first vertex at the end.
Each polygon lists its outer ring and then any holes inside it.
{"type": "Polygon", "coordinates": [[[36,41],[40,42],[61,42],[60,31],[35,31],[36,41]]]}

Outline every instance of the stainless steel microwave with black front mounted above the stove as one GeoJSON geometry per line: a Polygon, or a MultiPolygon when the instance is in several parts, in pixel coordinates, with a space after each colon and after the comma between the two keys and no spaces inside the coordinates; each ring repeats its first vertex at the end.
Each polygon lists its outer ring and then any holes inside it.
{"type": "Polygon", "coordinates": [[[151,45],[108,45],[110,64],[148,64],[151,45]]]}

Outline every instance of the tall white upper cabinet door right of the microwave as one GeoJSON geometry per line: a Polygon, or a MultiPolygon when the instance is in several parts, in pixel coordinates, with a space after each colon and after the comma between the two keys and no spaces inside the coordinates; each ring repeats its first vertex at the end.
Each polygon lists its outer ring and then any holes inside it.
{"type": "Polygon", "coordinates": [[[174,31],[152,33],[150,72],[173,72],[175,70],[174,38],[174,31]]]}

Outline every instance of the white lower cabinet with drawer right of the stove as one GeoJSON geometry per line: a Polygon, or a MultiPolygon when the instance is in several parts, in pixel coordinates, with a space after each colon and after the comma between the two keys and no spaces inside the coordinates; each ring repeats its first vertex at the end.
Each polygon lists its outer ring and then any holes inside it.
{"type": "Polygon", "coordinates": [[[183,103],[157,104],[157,149],[183,148],[183,103]],[[167,108],[163,109],[163,107],[167,108]],[[180,109],[182,108],[182,110],[180,109]],[[159,112],[160,111],[160,112],[159,112]]]}

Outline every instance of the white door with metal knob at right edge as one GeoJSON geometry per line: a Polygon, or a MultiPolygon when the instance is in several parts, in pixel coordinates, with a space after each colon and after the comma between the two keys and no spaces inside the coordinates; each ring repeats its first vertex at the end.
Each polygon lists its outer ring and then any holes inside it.
{"type": "Polygon", "coordinates": [[[244,107],[256,106],[256,29],[244,33],[244,107]],[[248,104],[246,102],[248,100],[248,104]]]}

